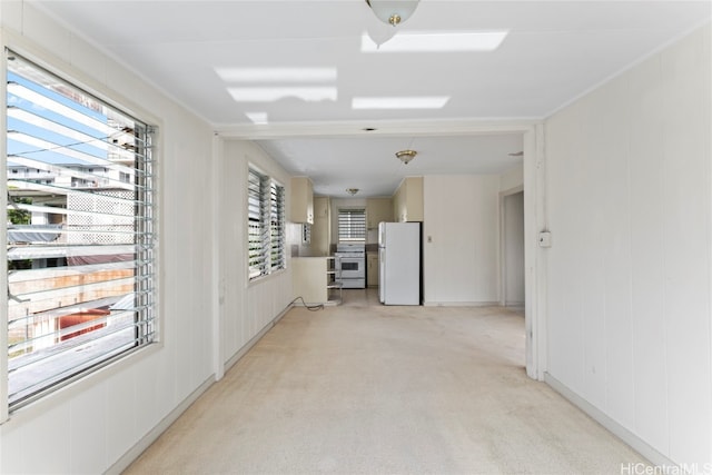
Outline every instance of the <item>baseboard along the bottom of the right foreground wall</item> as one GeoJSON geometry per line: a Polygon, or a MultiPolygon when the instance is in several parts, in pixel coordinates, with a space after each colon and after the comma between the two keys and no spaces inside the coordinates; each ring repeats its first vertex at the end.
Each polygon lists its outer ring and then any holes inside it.
{"type": "MultiPolygon", "coordinates": [[[[563,397],[568,399],[574,406],[578,407],[581,410],[586,413],[591,418],[601,424],[603,427],[609,429],[613,435],[619,437],[621,441],[630,445],[634,451],[641,454],[643,457],[647,458],[651,464],[656,467],[673,467],[679,466],[670,458],[657,452],[655,448],[650,446],[645,441],[633,434],[627,428],[623,427],[617,422],[613,420],[610,416],[604,414],[601,409],[595,407],[593,404],[589,403],[586,399],[571,390],[567,386],[561,383],[558,379],[550,375],[548,373],[544,374],[544,383],[551,386],[556,393],[561,394],[563,397]]],[[[645,472],[647,473],[647,472],[645,472]]],[[[652,473],[652,472],[651,472],[652,473]]],[[[655,472],[657,473],[657,472],[655,472]]]]}

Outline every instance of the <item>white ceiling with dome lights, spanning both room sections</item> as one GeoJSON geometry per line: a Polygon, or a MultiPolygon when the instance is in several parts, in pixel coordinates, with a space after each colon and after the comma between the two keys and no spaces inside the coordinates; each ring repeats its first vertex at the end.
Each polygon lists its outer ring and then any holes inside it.
{"type": "Polygon", "coordinates": [[[346,196],[350,187],[362,190],[357,196],[390,195],[405,175],[516,166],[521,158],[508,154],[522,150],[521,132],[494,126],[497,133],[483,133],[483,123],[545,118],[709,21],[711,12],[710,1],[422,0],[396,36],[508,34],[488,52],[367,53],[360,51],[364,33],[379,38],[393,29],[364,0],[34,3],[216,130],[259,140],[288,171],[310,176],[315,191],[330,196],[346,196]],[[264,85],[236,79],[236,68],[276,67],[326,68],[329,77],[307,86],[330,88],[329,99],[234,99],[230,88],[264,85]],[[352,108],[354,97],[382,96],[449,100],[428,110],[352,108]],[[255,112],[267,123],[250,121],[255,112]],[[479,132],[464,133],[473,123],[479,132]],[[363,130],[368,127],[378,130],[363,130]],[[406,166],[394,154],[408,147],[418,156],[406,166]]]}

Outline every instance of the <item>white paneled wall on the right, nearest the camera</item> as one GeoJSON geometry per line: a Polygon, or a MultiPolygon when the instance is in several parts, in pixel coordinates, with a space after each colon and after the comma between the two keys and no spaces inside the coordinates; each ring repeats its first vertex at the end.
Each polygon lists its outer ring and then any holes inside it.
{"type": "Polygon", "coordinates": [[[710,57],[708,26],[546,122],[548,373],[679,464],[712,461],[710,57]]]}

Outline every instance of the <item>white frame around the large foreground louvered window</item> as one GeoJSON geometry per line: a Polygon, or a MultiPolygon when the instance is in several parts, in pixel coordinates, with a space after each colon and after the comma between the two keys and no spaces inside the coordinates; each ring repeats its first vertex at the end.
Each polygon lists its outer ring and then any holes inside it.
{"type": "MultiPolygon", "coordinates": [[[[136,226],[135,229],[137,229],[136,232],[147,237],[147,238],[146,237],[139,238],[132,241],[136,256],[142,255],[142,251],[140,250],[141,248],[148,249],[148,253],[150,254],[150,256],[146,257],[146,260],[144,259],[144,257],[137,257],[135,266],[132,266],[131,268],[137,270],[140,266],[147,265],[147,264],[150,267],[150,273],[146,275],[146,278],[139,277],[139,275],[142,276],[142,274],[135,274],[132,279],[135,281],[135,285],[138,286],[138,287],[135,287],[134,295],[137,296],[138,294],[140,294],[140,290],[137,290],[138,288],[141,288],[141,284],[139,283],[139,280],[144,280],[147,284],[149,289],[148,294],[150,295],[150,297],[148,300],[149,303],[147,305],[150,308],[147,310],[147,314],[149,314],[150,317],[148,319],[140,319],[135,321],[139,321],[138,325],[144,325],[144,323],[148,323],[150,327],[149,333],[151,337],[148,338],[148,340],[146,342],[137,343],[136,345],[134,345],[130,348],[127,348],[126,350],[120,350],[116,353],[105,352],[103,353],[105,356],[102,357],[101,360],[92,364],[85,363],[79,367],[79,369],[77,370],[72,369],[73,372],[72,374],[62,376],[58,380],[55,380],[51,384],[46,385],[38,390],[33,390],[29,396],[24,396],[18,400],[14,400],[13,403],[10,403],[10,399],[9,399],[8,385],[7,384],[0,385],[0,423],[6,420],[9,417],[10,413],[14,412],[16,409],[24,408],[30,404],[33,405],[34,403],[42,402],[42,400],[52,400],[48,396],[53,395],[55,393],[57,393],[57,390],[61,389],[62,387],[69,384],[79,384],[79,383],[86,384],[88,382],[91,382],[95,377],[97,377],[95,375],[99,370],[102,370],[103,373],[103,368],[106,368],[109,365],[111,366],[116,365],[117,367],[122,367],[126,364],[129,364],[128,362],[135,359],[136,356],[138,356],[139,354],[145,354],[146,352],[156,350],[159,346],[161,346],[160,329],[162,327],[161,325],[162,314],[160,311],[162,307],[160,305],[161,293],[159,291],[160,289],[160,270],[159,269],[160,269],[160,255],[161,255],[161,246],[159,243],[159,235],[161,229],[161,219],[159,215],[161,192],[160,192],[159,182],[160,182],[160,175],[161,175],[160,166],[162,160],[159,159],[159,154],[158,154],[158,150],[161,148],[159,146],[160,139],[161,139],[161,135],[159,133],[161,121],[158,118],[152,117],[149,112],[141,110],[140,108],[137,108],[134,102],[126,99],[125,97],[117,93],[116,91],[109,90],[105,85],[99,83],[92,80],[91,78],[88,78],[83,72],[77,70],[76,68],[69,65],[62,63],[61,61],[58,61],[56,59],[49,59],[49,60],[46,59],[43,53],[38,52],[33,48],[23,44],[23,41],[21,39],[7,41],[3,44],[3,58],[1,61],[1,65],[2,65],[1,70],[2,70],[2,73],[6,76],[6,78],[8,78],[8,72],[9,72],[9,68],[7,65],[7,61],[8,61],[7,56],[9,53],[19,56],[23,61],[30,63],[38,70],[44,71],[46,73],[57,78],[59,81],[67,83],[70,88],[79,91],[80,95],[86,95],[86,97],[91,98],[91,100],[95,100],[98,103],[102,103],[103,106],[108,107],[110,110],[115,110],[117,113],[129,118],[135,123],[141,125],[141,127],[144,126],[146,127],[147,137],[150,136],[149,142],[147,142],[148,147],[150,148],[150,151],[146,154],[147,156],[150,155],[150,159],[148,160],[149,169],[147,169],[146,172],[150,175],[149,180],[151,181],[151,184],[148,185],[150,190],[144,197],[146,198],[146,200],[150,202],[150,210],[147,211],[148,215],[141,215],[140,212],[134,211],[134,214],[129,216],[132,217],[132,221],[135,224],[134,226],[136,226]],[[138,230],[144,228],[139,224],[139,221],[148,222],[147,225],[148,229],[145,231],[145,234],[142,230],[138,230]]],[[[7,81],[6,81],[6,93],[3,95],[3,97],[6,98],[8,97],[7,81]]],[[[6,100],[6,108],[7,106],[8,103],[6,100]]],[[[2,133],[1,146],[7,151],[8,150],[8,135],[7,135],[8,113],[7,112],[2,115],[1,120],[6,130],[6,132],[2,133]]],[[[7,152],[3,152],[3,157],[0,164],[2,165],[2,168],[6,169],[6,172],[7,172],[8,170],[7,152]]],[[[8,184],[6,178],[6,191],[8,189],[7,185],[8,184]]],[[[7,192],[2,194],[0,204],[2,204],[7,208],[8,206],[7,192]]],[[[8,243],[8,236],[9,236],[8,226],[2,226],[0,238],[3,238],[6,243],[8,243]]],[[[4,256],[6,259],[1,259],[2,266],[3,266],[1,284],[6,287],[6,289],[9,289],[7,247],[4,248],[3,253],[6,253],[6,256],[4,256]]],[[[136,300],[136,298],[139,298],[139,297],[135,297],[135,300],[134,300],[135,306],[138,306],[139,304],[138,304],[138,300],[136,300]]],[[[2,297],[0,298],[0,305],[2,305],[4,309],[8,309],[9,298],[8,298],[7,291],[3,293],[2,297]]],[[[8,342],[9,342],[9,338],[8,338],[9,334],[7,330],[8,311],[3,311],[2,314],[3,315],[0,316],[0,325],[2,325],[3,328],[6,328],[6,330],[0,331],[0,335],[1,335],[0,343],[2,343],[4,347],[8,347],[8,342]]],[[[138,333],[136,335],[142,335],[142,334],[138,333]]],[[[4,353],[3,356],[0,357],[0,377],[2,377],[3,380],[6,382],[8,380],[8,365],[9,365],[9,355],[8,353],[4,353]]],[[[53,377],[56,378],[58,374],[53,373],[53,375],[55,375],[53,377]]]]}

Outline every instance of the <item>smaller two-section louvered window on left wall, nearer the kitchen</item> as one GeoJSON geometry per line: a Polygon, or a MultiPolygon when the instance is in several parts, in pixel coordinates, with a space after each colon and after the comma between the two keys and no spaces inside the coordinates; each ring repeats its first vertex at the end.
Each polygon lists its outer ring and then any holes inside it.
{"type": "Polygon", "coordinates": [[[250,168],[247,190],[248,265],[254,279],[285,268],[285,189],[250,168]]]}

